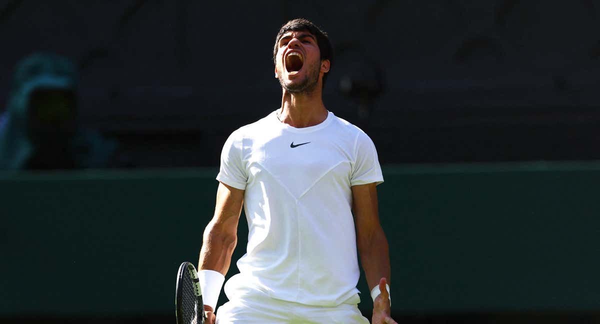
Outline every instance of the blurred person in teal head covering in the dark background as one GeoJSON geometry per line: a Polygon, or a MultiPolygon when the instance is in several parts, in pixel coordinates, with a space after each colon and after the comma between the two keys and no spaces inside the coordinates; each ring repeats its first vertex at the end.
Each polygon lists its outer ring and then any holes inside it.
{"type": "Polygon", "coordinates": [[[79,125],[77,70],[52,53],[17,64],[0,115],[0,169],[53,170],[118,166],[118,145],[79,125]]]}

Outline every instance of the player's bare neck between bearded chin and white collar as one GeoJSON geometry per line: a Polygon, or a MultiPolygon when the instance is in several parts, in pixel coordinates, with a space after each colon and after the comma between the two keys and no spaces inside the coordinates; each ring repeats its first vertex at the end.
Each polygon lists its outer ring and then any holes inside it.
{"type": "Polygon", "coordinates": [[[319,125],[328,114],[321,89],[308,93],[290,93],[283,89],[281,109],[277,113],[281,122],[295,128],[319,125]]]}

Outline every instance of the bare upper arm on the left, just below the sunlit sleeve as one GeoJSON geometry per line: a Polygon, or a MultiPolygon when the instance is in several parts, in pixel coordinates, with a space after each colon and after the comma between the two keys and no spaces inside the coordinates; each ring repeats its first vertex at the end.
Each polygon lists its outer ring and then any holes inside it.
{"type": "Polygon", "coordinates": [[[212,225],[218,227],[222,232],[235,233],[243,203],[244,190],[219,182],[212,225]]]}

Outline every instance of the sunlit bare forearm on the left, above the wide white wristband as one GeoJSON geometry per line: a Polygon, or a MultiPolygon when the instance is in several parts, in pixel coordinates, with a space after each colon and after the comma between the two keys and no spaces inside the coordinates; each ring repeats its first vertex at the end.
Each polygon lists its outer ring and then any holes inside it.
{"type": "Polygon", "coordinates": [[[222,224],[211,221],[206,226],[200,250],[200,270],[214,270],[226,275],[237,244],[236,233],[227,232],[222,224]]]}

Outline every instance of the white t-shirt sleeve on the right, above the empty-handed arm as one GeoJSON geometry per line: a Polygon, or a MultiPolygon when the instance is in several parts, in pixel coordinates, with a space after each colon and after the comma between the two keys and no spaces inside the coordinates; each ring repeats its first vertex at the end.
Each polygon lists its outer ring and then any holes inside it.
{"type": "Polygon", "coordinates": [[[373,140],[364,132],[360,132],[355,144],[355,163],[352,167],[350,185],[371,184],[383,182],[383,173],[379,166],[377,150],[373,140]]]}

